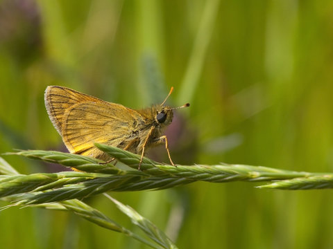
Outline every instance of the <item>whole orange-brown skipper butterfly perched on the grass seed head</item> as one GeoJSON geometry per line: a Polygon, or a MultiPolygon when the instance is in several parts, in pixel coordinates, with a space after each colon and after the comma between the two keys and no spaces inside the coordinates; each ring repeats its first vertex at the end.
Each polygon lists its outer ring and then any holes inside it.
{"type": "Polygon", "coordinates": [[[172,122],[173,110],[189,107],[162,104],[134,110],[121,104],[106,102],[64,86],[47,86],[44,100],[46,111],[69,152],[110,161],[112,158],[94,146],[95,142],[118,147],[142,158],[147,149],[165,145],[172,165],[167,136],[162,131],[172,122]]]}

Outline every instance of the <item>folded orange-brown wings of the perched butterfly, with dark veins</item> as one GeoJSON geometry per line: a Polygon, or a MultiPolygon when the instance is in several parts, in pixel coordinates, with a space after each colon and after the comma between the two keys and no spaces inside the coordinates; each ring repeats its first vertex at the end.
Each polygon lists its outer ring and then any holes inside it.
{"type": "Polygon", "coordinates": [[[105,159],[94,142],[126,147],[137,139],[133,131],[144,123],[137,111],[71,89],[48,89],[46,109],[71,153],[105,159]]]}

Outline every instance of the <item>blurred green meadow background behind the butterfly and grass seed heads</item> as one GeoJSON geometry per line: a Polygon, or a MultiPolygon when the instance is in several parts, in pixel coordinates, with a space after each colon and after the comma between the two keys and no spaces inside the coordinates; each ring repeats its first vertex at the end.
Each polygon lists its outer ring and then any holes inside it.
{"type": "MultiPolygon", "coordinates": [[[[0,1],[0,152],[65,151],[44,108],[61,85],[141,108],[177,111],[176,163],[333,171],[333,1],[0,1]]],[[[163,148],[149,154],[168,162],[163,148]]],[[[61,170],[3,156],[19,172],[61,170]]],[[[333,248],[331,190],[193,183],[111,193],[179,248],[333,248]]],[[[103,196],[86,200],[130,221],[103,196]]],[[[1,206],[7,203],[1,202],[1,206]]],[[[0,212],[1,248],[146,248],[78,218],[0,212]]]]}

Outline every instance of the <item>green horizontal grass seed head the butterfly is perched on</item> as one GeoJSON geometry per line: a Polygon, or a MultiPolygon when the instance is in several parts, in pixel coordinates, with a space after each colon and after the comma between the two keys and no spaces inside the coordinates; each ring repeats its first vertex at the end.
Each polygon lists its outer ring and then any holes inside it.
{"type": "MultiPolygon", "coordinates": [[[[142,171],[137,170],[141,156],[117,147],[96,144],[96,147],[132,167],[121,170],[114,165],[103,165],[99,160],[56,151],[19,151],[15,154],[67,167],[83,167],[94,172],[60,172],[55,174],[33,174],[28,176],[0,177],[0,196],[37,192],[31,198],[19,202],[21,205],[53,203],[71,199],[84,199],[109,191],[162,190],[195,181],[226,183],[230,181],[282,181],[267,185],[266,188],[284,190],[333,187],[333,174],[293,172],[251,165],[161,165],[148,158],[142,160],[142,171]],[[323,176],[325,177],[323,178],[323,176]],[[296,179],[295,179],[296,178],[296,179]],[[292,180],[295,179],[295,180],[292,180]],[[290,181],[287,181],[290,180],[290,181]],[[313,180],[309,183],[309,180],[313,180]],[[314,185],[316,183],[316,185],[314,185]],[[45,191],[47,190],[47,191],[45,191]]],[[[264,188],[265,186],[262,186],[264,188]]]]}

